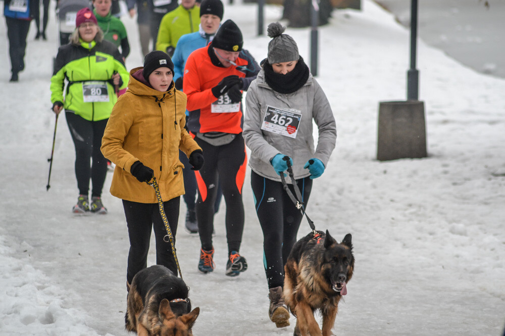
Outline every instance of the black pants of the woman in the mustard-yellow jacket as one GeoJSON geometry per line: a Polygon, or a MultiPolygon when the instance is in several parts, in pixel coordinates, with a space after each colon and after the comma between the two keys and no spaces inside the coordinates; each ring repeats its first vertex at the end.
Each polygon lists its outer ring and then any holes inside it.
{"type": "MultiPolygon", "coordinates": [[[[175,246],[180,197],[167,200],[163,205],[175,246]]],[[[128,225],[128,236],[130,237],[130,252],[128,253],[128,268],[126,271],[128,283],[131,284],[135,274],[147,267],[147,252],[149,251],[151,230],[154,230],[156,238],[156,264],[167,267],[173,274],[177,275],[177,264],[172,254],[172,246],[168,239],[167,241],[163,239],[167,235],[167,230],[161,218],[158,203],[137,203],[123,199],[123,208],[126,224],[128,225]]]]}

